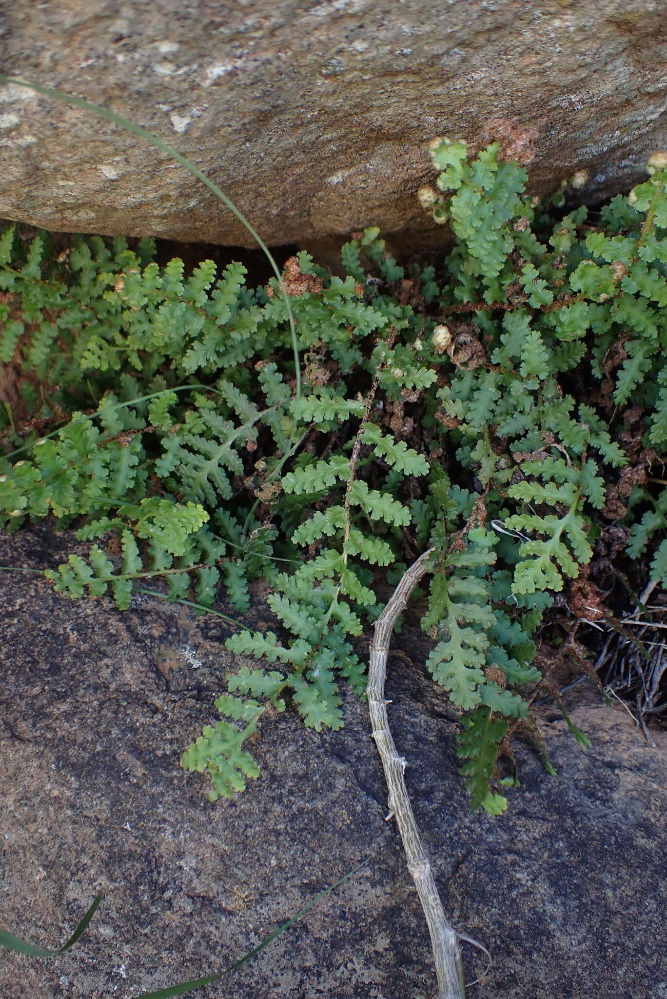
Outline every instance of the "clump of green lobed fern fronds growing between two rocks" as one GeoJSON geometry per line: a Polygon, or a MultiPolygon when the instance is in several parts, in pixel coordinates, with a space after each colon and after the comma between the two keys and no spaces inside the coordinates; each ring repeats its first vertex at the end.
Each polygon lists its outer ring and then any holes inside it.
{"type": "Polygon", "coordinates": [[[211,261],[186,277],[151,241],[0,241],[0,359],[21,372],[0,413],[4,528],[75,526],[88,557],[47,576],[121,608],[160,576],[202,608],[222,585],[241,614],[269,583],[276,630],[228,639],[254,668],[183,756],[213,800],[258,775],[245,746],[268,706],[342,725],[377,583],[432,548],[427,665],[460,709],[472,805],[499,812],[510,736],[544,748],[545,629],[583,659],[581,622],[610,616],[593,576],[632,590],[642,556],[667,578],[667,154],[593,215],[526,197],[497,145],[431,155],[419,197],[455,237],[437,274],[373,229],[342,248],[344,278],[288,261],[301,387],[276,279],[250,290],[211,261]]]}

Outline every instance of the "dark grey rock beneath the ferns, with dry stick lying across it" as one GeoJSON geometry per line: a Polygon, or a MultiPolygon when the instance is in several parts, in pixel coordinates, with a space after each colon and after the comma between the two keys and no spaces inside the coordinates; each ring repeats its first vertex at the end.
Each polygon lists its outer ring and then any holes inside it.
{"type": "MultiPolygon", "coordinates": [[[[47,566],[75,546],[40,525],[1,536],[0,564],[47,566]]],[[[66,956],[3,953],[3,999],[130,999],[223,967],[369,853],[202,999],[433,996],[362,704],[346,698],[338,733],[306,731],[290,712],[268,719],[261,778],[212,805],[178,758],[235,668],[229,625],[156,598],[126,613],[72,602],[30,573],[3,572],[0,586],[0,925],[56,946],[106,892],[66,956]]],[[[258,602],[260,627],[263,614],[258,602]]],[[[509,812],[471,815],[424,653],[416,629],[397,636],[390,714],[445,907],[493,956],[470,999],[665,999],[665,733],[651,749],[622,708],[584,700],[573,706],[593,739],[584,751],[546,712],[559,776],[519,747],[509,812]]],[[[483,971],[465,958],[470,978],[483,971]]]]}

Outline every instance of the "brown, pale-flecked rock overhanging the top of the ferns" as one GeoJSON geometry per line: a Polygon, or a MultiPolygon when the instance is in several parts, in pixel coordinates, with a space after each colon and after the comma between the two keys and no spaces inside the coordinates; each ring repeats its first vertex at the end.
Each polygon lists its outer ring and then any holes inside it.
{"type": "MultiPolygon", "coordinates": [[[[418,245],[427,141],[477,143],[489,119],[534,130],[533,191],[581,168],[587,200],[638,180],[667,145],[666,25],[665,0],[14,0],[0,67],[151,129],[269,243],[378,225],[418,245]]],[[[85,112],[2,88],[0,140],[0,217],[251,245],[181,167],[85,112]]]]}

